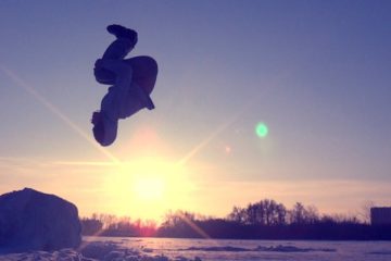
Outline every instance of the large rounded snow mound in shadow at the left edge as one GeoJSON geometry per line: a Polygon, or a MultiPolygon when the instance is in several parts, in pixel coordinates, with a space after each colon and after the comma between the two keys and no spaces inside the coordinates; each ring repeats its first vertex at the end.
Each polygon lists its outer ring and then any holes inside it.
{"type": "Polygon", "coordinates": [[[76,248],[81,241],[77,208],[30,188],[0,196],[0,252],[76,248]]]}

